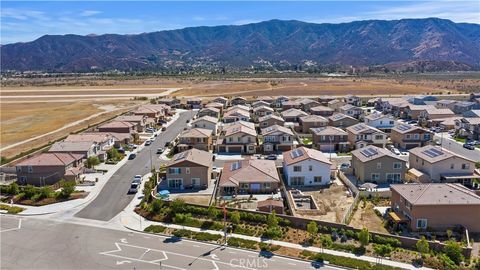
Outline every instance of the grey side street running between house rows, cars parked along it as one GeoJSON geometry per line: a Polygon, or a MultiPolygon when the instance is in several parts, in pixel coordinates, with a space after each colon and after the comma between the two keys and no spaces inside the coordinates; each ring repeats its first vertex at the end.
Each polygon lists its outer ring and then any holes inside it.
{"type": "Polygon", "coordinates": [[[100,194],[75,216],[80,218],[108,221],[120,213],[132,200],[134,195],[127,195],[127,191],[136,174],[147,174],[151,169],[151,162],[158,169],[160,160],[156,149],[170,142],[186,127],[186,121],[191,119],[195,112],[180,113],[177,121],[173,122],[166,131],[150,146],[143,148],[134,160],[129,160],[105,184],[100,194]]]}

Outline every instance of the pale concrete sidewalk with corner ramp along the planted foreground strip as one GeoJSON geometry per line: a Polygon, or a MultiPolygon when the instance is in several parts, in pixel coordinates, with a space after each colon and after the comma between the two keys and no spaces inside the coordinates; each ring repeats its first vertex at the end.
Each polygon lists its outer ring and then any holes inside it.
{"type": "MultiPolygon", "coordinates": [[[[172,229],[183,229],[183,230],[189,230],[193,232],[207,232],[211,234],[217,234],[217,235],[223,235],[222,231],[214,231],[214,230],[203,230],[200,228],[195,228],[195,227],[188,227],[188,226],[183,226],[183,225],[177,225],[177,224],[169,224],[169,223],[163,223],[163,222],[155,222],[155,221],[150,221],[145,218],[143,218],[140,215],[137,215],[133,210],[135,209],[135,205],[138,205],[140,203],[141,199],[134,199],[132,203],[125,209],[123,213],[120,214],[119,220],[121,224],[131,230],[134,231],[143,231],[145,228],[147,228],[150,225],[161,225],[167,228],[172,228],[172,229]]],[[[289,242],[283,242],[283,241],[277,241],[277,240],[263,240],[260,237],[254,237],[254,236],[248,236],[248,235],[242,235],[242,234],[234,234],[230,233],[227,235],[227,237],[235,237],[235,238],[241,238],[245,240],[252,240],[256,241],[259,243],[269,243],[273,245],[278,245],[282,247],[289,247],[289,248],[295,248],[299,250],[307,250],[315,253],[325,253],[325,254],[331,254],[335,256],[342,256],[342,257],[348,257],[348,258],[353,258],[353,259],[358,259],[362,261],[368,261],[371,263],[378,263],[381,261],[381,264],[383,265],[388,265],[392,267],[398,267],[402,269],[430,269],[426,267],[421,267],[421,268],[416,268],[411,264],[407,263],[401,263],[401,262],[396,262],[396,261],[391,261],[388,259],[379,259],[375,257],[370,257],[370,256],[364,256],[360,255],[357,256],[352,253],[348,252],[343,252],[343,251],[337,251],[337,250],[330,250],[330,249],[322,249],[318,247],[312,247],[312,246],[303,246],[300,244],[294,244],[294,243],[289,243],[289,242]]]]}

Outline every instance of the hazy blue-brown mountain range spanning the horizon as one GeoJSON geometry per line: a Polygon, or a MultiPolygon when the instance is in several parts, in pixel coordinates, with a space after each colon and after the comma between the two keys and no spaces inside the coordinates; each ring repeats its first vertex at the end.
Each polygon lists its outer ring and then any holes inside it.
{"type": "MultiPolygon", "coordinates": [[[[2,70],[480,66],[480,25],[438,18],[340,24],[271,20],[135,35],[45,35],[2,45],[2,70]]],[[[448,69],[448,68],[447,68],[448,69]]]]}

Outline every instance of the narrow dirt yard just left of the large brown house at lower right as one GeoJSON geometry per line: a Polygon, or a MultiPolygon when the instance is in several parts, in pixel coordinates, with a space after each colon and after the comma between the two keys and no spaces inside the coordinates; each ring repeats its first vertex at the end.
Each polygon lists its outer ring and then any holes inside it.
{"type": "Polygon", "coordinates": [[[357,211],[353,214],[350,226],[355,228],[366,227],[370,231],[388,233],[383,227],[382,219],[373,211],[374,205],[367,201],[364,205],[362,201],[358,204],[357,211]]]}

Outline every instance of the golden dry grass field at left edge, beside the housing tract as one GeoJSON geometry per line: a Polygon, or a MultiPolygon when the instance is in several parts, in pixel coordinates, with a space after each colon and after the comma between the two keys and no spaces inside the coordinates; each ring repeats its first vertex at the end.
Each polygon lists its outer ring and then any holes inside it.
{"type": "Polygon", "coordinates": [[[2,156],[59,139],[140,104],[133,101],[1,104],[2,156]],[[23,142],[23,143],[22,143],[23,142]]]}

